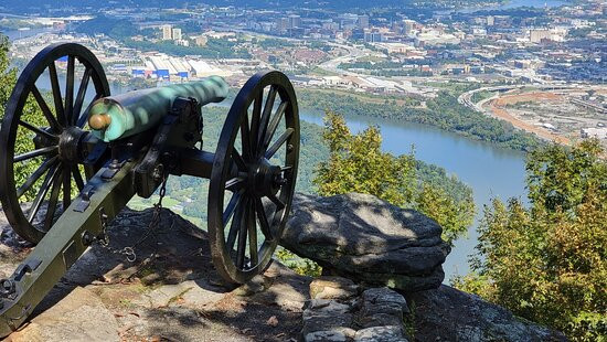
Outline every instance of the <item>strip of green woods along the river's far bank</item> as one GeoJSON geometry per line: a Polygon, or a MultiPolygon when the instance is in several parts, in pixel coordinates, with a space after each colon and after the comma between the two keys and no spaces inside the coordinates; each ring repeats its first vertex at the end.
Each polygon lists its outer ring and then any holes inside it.
{"type": "Polygon", "coordinates": [[[511,124],[476,113],[459,104],[456,92],[440,92],[426,101],[427,108],[411,108],[396,104],[370,104],[355,96],[298,89],[300,106],[352,116],[371,116],[425,124],[476,140],[500,147],[530,151],[541,142],[531,133],[515,129],[511,124]]]}

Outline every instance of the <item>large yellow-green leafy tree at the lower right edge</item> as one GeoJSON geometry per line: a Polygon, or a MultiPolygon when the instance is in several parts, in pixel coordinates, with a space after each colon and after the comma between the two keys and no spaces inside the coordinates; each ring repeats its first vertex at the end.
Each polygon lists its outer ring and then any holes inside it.
{"type": "Polygon", "coordinates": [[[607,341],[607,162],[598,140],[530,153],[531,207],[494,200],[456,287],[574,341],[607,341]]]}

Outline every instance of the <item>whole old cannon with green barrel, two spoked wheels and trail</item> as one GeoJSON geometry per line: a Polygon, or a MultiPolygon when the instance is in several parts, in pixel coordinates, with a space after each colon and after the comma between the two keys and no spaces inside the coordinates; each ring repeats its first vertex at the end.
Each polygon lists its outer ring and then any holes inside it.
{"type": "Polygon", "coordinates": [[[296,184],[297,98],[283,73],[255,74],[230,107],[215,151],[204,151],[203,106],[228,88],[211,76],[110,96],[99,61],[74,43],[51,45],[28,64],[0,129],[0,202],[35,247],[0,280],[0,338],[89,246],[107,243],[107,222],[132,196],[159,191],[159,209],[171,174],[210,180],[206,228],[222,278],[244,284],[269,266],[296,184]],[[41,92],[44,82],[51,92],[41,92]]]}

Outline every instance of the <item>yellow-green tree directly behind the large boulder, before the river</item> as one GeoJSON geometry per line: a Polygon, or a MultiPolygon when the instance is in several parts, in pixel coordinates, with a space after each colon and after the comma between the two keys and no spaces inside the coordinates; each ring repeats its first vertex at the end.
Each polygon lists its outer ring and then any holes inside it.
{"type": "Polygon", "coordinates": [[[443,237],[449,243],[467,232],[475,216],[471,192],[456,199],[437,184],[420,181],[413,152],[400,157],[382,152],[376,127],[352,135],[342,116],[328,111],[324,120],[330,156],[319,164],[313,180],[320,195],[369,193],[394,205],[415,207],[443,226],[443,237]]]}

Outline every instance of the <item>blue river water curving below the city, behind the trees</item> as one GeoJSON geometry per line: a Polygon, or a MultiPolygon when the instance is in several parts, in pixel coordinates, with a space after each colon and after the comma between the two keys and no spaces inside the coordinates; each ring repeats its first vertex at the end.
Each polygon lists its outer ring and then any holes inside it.
{"type": "MultiPolygon", "coordinates": [[[[300,118],[322,125],[322,115],[318,111],[303,110],[300,118]]],[[[417,159],[445,168],[472,188],[477,205],[475,224],[466,238],[456,241],[444,264],[446,282],[452,275],[467,274],[470,270],[468,256],[475,252],[478,242],[476,227],[483,205],[490,204],[493,197],[505,201],[526,194],[525,154],[426,125],[369,117],[348,117],[347,120],[352,131],[360,131],[369,125],[380,127],[384,151],[405,154],[414,145],[417,159]]]]}

